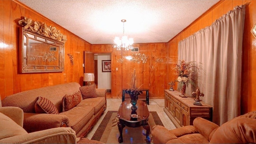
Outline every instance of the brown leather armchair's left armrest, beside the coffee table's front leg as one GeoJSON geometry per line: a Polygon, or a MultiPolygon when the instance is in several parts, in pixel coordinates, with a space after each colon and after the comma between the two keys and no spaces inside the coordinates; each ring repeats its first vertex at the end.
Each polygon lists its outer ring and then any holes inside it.
{"type": "Polygon", "coordinates": [[[165,144],[166,142],[177,139],[177,137],[167,130],[164,126],[156,125],[151,131],[154,144],[165,144]]]}

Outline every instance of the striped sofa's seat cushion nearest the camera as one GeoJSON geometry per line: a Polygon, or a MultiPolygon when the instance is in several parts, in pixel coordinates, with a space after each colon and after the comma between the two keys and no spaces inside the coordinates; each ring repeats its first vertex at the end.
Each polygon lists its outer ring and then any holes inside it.
{"type": "Polygon", "coordinates": [[[92,118],[94,114],[94,108],[76,106],[66,112],[61,112],[59,114],[67,116],[69,119],[70,127],[74,131],[79,132],[80,129],[83,128],[92,118]]]}

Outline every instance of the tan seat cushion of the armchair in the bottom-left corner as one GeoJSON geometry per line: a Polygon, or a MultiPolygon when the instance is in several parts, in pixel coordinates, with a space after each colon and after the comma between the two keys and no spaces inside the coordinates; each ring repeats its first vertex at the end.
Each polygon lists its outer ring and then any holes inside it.
{"type": "Polygon", "coordinates": [[[28,134],[21,126],[11,118],[0,113],[0,140],[21,134],[28,134]]]}

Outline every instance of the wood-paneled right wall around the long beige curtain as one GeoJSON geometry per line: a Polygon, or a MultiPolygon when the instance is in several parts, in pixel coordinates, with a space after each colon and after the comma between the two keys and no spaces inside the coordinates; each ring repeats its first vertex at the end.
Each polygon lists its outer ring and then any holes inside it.
{"type": "MultiPolygon", "coordinates": [[[[243,51],[242,51],[242,86],[241,86],[241,113],[256,110],[256,38],[250,30],[256,22],[256,0],[221,0],[206,13],[200,16],[190,26],[168,42],[170,63],[177,60],[178,42],[194,34],[198,30],[210,26],[212,22],[233,10],[235,6],[246,4],[246,15],[244,23],[243,51]]],[[[174,74],[169,72],[169,78],[174,74]]]]}

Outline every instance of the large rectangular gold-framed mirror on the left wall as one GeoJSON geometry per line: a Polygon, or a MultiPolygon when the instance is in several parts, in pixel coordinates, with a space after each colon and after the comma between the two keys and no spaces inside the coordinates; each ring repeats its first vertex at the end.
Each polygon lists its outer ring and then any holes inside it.
{"type": "Polygon", "coordinates": [[[19,34],[21,73],[64,71],[64,43],[26,28],[19,34]]]}

